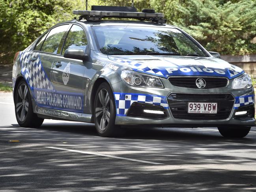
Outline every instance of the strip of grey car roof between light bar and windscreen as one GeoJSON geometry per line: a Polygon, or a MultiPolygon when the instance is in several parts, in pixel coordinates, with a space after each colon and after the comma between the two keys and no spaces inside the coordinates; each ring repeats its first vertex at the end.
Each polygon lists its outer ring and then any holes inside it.
{"type": "Polygon", "coordinates": [[[141,27],[164,27],[164,28],[176,28],[169,24],[159,24],[150,21],[125,21],[125,20],[101,20],[101,21],[86,21],[78,20],[77,22],[82,22],[84,24],[89,24],[90,26],[141,26],[141,27]]]}

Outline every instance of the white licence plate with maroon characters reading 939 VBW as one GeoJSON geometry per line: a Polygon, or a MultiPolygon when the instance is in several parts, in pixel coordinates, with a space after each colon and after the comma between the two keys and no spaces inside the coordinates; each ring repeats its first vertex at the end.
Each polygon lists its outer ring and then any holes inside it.
{"type": "Polygon", "coordinates": [[[217,103],[188,103],[188,113],[217,113],[217,103]]]}

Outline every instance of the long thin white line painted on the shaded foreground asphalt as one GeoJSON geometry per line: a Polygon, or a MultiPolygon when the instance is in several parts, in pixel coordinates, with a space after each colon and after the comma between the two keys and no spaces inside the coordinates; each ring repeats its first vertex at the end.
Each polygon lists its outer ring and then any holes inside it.
{"type": "Polygon", "coordinates": [[[133,159],[133,158],[124,158],[124,157],[118,157],[118,156],[113,156],[113,155],[105,155],[105,154],[101,154],[101,153],[92,153],[92,152],[87,152],[87,151],[78,151],[78,150],[73,150],[73,149],[64,149],[64,148],[59,148],[59,147],[46,147],[46,148],[59,149],[59,150],[63,150],[63,151],[71,151],[71,152],[84,153],[84,154],[90,154],[90,155],[98,155],[98,156],[111,157],[111,158],[119,158],[119,159],[136,161],[136,162],[142,162],[142,163],[149,163],[149,164],[154,164],[154,165],[161,165],[161,164],[163,164],[163,163],[156,163],[156,162],[138,160],[138,159],[133,159]]]}

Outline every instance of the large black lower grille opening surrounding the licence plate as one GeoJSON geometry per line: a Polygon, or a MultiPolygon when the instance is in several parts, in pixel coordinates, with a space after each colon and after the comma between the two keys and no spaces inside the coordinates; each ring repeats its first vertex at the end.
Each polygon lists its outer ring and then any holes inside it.
{"type": "Polygon", "coordinates": [[[235,99],[230,93],[171,93],[167,98],[172,116],[184,120],[224,120],[232,112],[235,99]],[[188,102],[217,103],[217,114],[189,114],[188,102]]]}

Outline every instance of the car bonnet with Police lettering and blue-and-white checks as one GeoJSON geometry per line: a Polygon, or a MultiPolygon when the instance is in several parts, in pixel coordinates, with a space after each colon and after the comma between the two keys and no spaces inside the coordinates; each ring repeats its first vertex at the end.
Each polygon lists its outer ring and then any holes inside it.
{"type": "Polygon", "coordinates": [[[163,78],[169,76],[222,76],[235,78],[243,69],[213,57],[190,56],[108,56],[113,62],[131,67],[134,71],[163,78]]]}

